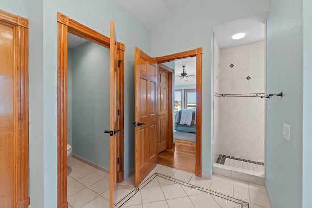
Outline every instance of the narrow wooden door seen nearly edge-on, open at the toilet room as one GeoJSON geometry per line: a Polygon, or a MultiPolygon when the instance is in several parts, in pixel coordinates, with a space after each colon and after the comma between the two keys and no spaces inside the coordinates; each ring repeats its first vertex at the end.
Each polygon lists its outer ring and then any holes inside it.
{"type": "Polygon", "coordinates": [[[117,140],[119,139],[118,129],[118,60],[117,60],[117,40],[114,29],[114,22],[110,22],[110,112],[109,112],[109,170],[110,170],[110,208],[114,207],[117,193],[117,140]]]}

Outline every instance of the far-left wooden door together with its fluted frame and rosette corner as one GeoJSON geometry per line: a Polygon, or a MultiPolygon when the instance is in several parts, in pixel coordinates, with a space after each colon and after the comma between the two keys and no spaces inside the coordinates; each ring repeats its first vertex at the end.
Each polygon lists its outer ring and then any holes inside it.
{"type": "Polygon", "coordinates": [[[0,10],[0,208],[28,205],[28,20],[0,10]]]}

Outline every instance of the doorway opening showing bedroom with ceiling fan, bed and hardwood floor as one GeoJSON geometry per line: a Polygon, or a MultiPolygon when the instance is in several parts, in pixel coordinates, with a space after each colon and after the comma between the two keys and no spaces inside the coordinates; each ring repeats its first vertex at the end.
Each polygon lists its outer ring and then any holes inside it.
{"type": "MultiPolygon", "coordinates": [[[[195,173],[196,57],[178,59],[163,63],[163,65],[172,68],[174,74],[173,92],[169,93],[169,95],[174,97],[172,108],[174,108],[173,143],[175,145],[174,148],[168,148],[159,153],[158,163],[195,173]]],[[[161,68],[159,67],[159,69],[161,68]]],[[[160,98],[160,96],[158,97],[160,98]]],[[[159,100],[159,102],[163,103],[162,100],[159,100]]],[[[160,135],[160,137],[163,136],[160,135]]]]}

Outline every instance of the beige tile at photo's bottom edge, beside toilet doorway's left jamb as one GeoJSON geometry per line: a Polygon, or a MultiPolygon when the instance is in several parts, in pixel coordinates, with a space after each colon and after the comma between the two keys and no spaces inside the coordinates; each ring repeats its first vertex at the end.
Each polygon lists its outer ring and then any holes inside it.
{"type": "Polygon", "coordinates": [[[67,201],[73,208],[81,208],[96,197],[98,197],[96,192],[85,188],[69,197],[67,201]]]}

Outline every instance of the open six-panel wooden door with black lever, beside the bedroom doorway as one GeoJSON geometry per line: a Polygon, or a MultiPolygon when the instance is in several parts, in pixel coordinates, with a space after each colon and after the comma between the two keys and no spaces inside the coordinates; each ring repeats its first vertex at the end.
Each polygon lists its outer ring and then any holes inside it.
{"type": "Polygon", "coordinates": [[[135,47],[135,187],[156,166],[157,62],[135,47]]]}

